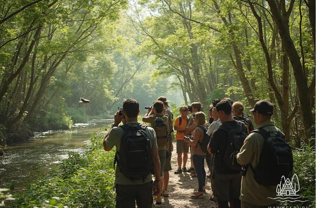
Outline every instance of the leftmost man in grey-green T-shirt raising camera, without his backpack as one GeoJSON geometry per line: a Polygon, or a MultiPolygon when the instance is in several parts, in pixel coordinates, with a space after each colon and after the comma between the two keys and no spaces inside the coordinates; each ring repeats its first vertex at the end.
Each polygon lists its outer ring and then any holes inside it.
{"type": "MultiPolygon", "coordinates": [[[[119,127],[119,124],[127,124],[129,126],[138,126],[137,116],[139,114],[139,104],[137,100],[126,99],[123,102],[122,116],[119,111],[114,115],[114,123],[111,129],[107,132],[103,139],[103,147],[105,151],[110,151],[115,146],[120,149],[121,138],[124,134],[124,129],[119,127]]],[[[154,171],[160,172],[160,162],[158,156],[158,146],[156,134],[153,128],[147,127],[145,132],[148,136],[154,171]]],[[[160,196],[161,194],[161,177],[155,175],[155,181],[152,181],[151,174],[146,178],[140,177],[131,180],[120,172],[119,166],[115,170],[115,188],[116,188],[116,208],[135,208],[135,200],[139,208],[151,207],[153,203],[153,195],[160,196]]]]}

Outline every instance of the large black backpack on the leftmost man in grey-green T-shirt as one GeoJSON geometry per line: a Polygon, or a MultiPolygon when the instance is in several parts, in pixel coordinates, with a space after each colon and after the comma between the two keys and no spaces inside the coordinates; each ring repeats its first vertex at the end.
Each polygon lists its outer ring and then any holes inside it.
{"type": "Polygon", "coordinates": [[[121,137],[119,151],[116,151],[114,158],[118,163],[119,170],[131,180],[135,178],[143,178],[143,180],[151,173],[152,156],[151,145],[144,124],[138,126],[123,125],[124,134],[121,137]]]}

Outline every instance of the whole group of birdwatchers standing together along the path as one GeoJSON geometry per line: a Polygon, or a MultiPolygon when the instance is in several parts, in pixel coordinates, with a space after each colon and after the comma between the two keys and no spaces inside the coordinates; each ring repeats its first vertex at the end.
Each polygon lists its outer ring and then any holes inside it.
{"type": "MultiPolygon", "coordinates": [[[[123,109],[114,115],[114,123],[103,139],[105,151],[114,146],[117,150],[114,161],[114,165],[117,163],[117,208],[134,208],[135,201],[139,208],[149,208],[153,196],[156,205],[162,204],[162,197],[168,197],[173,130],[176,131],[178,162],[174,174],[191,172],[192,177],[197,177],[198,188],[190,196],[192,199],[204,198],[208,177],[213,192],[209,199],[216,201],[218,208],[277,205],[276,199],[271,199],[276,198],[276,185],[266,185],[257,179],[258,168],[262,166],[260,155],[267,137],[282,137],[284,140],[284,134],[280,134],[271,121],[273,105],[260,100],[249,111],[258,130],[254,130],[252,122],[244,117],[245,108],[241,102],[233,103],[229,98],[213,100],[208,111],[208,123],[201,109],[199,102],[180,106],[181,115],[175,118],[173,125],[173,113],[167,98],[159,97],[142,118],[143,122],[151,124],[148,127],[137,122],[140,113],[138,102],[134,99],[123,102],[123,109]],[[119,126],[121,122],[123,125],[119,126]],[[191,164],[187,168],[189,151],[191,164]],[[210,171],[208,176],[204,160],[210,171]],[[155,175],[154,181],[152,174],[155,175]]],[[[288,166],[282,167],[289,169],[286,173],[293,169],[293,166],[288,166]]]]}

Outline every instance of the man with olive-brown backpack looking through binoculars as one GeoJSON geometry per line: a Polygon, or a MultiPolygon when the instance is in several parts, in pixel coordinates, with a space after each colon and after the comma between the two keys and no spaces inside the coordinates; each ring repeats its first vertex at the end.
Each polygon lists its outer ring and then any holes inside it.
{"type": "MultiPolygon", "coordinates": [[[[164,104],[163,102],[156,100],[148,112],[143,117],[143,122],[151,123],[151,127],[154,128],[157,137],[158,155],[160,160],[160,172],[155,172],[155,175],[160,175],[162,180],[160,181],[161,187],[163,186],[163,170],[166,161],[167,144],[170,140],[168,135],[170,134],[170,125],[168,116],[164,116],[163,113],[164,104]]],[[[157,196],[156,205],[161,205],[161,196],[157,196]]]]}

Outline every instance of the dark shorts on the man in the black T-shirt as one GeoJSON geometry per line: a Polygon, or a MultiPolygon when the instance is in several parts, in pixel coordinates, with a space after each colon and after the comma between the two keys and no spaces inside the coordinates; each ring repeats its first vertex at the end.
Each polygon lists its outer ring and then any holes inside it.
{"type": "Polygon", "coordinates": [[[239,199],[241,175],[214,173],[214,196],[217,201],[230,201],[239,199]]]}

